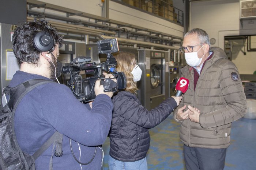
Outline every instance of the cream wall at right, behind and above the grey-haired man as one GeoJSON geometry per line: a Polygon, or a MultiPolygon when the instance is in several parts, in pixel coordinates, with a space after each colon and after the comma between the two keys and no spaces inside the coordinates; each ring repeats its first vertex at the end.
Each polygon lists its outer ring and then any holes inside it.
{"type": "MultiPolygon", "coordinates": [[[[189,22],[189,29],[204,29],[210,39],[216,39],[216,43],[212,46],[218,46],[223,50],[224,36],[256,35],[256,20],[240,22],[239,0],[191,2],[189,22]]],[[[241,52],[236,59],[232,59],[238,67],[240,74],[252,74],[252,71],[256,70],[256,57],[252,57],[256,56],[255,52],[247,52],[247,54],[244,56],[241,52]],[[250,57],[248,57],[249,55],[250,57]]]]}

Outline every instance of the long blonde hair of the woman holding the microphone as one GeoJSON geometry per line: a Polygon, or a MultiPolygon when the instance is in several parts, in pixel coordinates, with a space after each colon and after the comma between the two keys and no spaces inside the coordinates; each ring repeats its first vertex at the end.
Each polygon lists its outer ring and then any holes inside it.
{"type": "MultiPolygon", "coordinates": [[[[127,52],[119,52],[118,55],[114,56],[117,61],[116,70],[118,72],[124,72],[126,76],[127,86],[125,91],[129,91],[132,94],[138,90],[136,83],[133,81],[133,75],[131,74],[135,65],[135,55],[127,52]]],[[[136,93],[137,94],[137,93],[136,93]]]]}

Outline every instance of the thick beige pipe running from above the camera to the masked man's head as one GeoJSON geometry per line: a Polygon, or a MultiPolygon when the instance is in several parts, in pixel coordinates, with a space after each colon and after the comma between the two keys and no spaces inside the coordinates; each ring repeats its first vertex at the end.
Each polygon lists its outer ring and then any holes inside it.
{"type": "Polygon", "coordinates": [[[125,38],[118,38],[118,37],[111,37],[111,36],[106,36],[106,35],[101,35],[102,39],[110,39],[110,38],[116,38],[117,41],[123,42],[123,43],[128,43],[128,44],[141,44],[145,45],[148,47],[158,47],[158,48],[164,48],[164,49],[172,49],[172,50],[178,50],[178,47],[174,46],[166,46],[163,44],[155,44],[155,43],[150,43],[150,42],[145,42],[145,41],[139,41],[139,40],[131,40],[131,39],[125,39],[125,38]]]}

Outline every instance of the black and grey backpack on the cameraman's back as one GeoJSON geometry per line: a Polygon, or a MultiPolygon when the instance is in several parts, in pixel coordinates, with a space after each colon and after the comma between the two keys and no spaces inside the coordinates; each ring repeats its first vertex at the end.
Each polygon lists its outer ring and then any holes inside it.
{"type": "MultiPolygon", "coordinates": [[[[32,156],[22,152],[14,133],[14,114],[20,100],[36,86],[45,83],[55,83],[44,79],[31,79],[16,87],[5,87],[3,90],[2,104],[0,106],[0,169],[2,170],[35,170],[35,159],[53,143],[56,145],[54,155],[61,157],[63,135],[57,131],[46,141],[32,156]],[[9,100],[5,100],[8,94],[9,100]]],[[[52,157],[49,163],[52,169],[52,157]]]]}

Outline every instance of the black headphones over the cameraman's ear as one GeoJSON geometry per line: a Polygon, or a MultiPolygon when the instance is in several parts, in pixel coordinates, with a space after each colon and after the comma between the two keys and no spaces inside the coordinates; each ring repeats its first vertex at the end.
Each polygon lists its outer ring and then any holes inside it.
{"type": "Polygon", "coordinates": [[[40,52],[50,51],[54,46],[53,38],[46,32],[46,29],[45,27],[45,31],[36,33],[33,39],[34,47],[40,52]]]}

